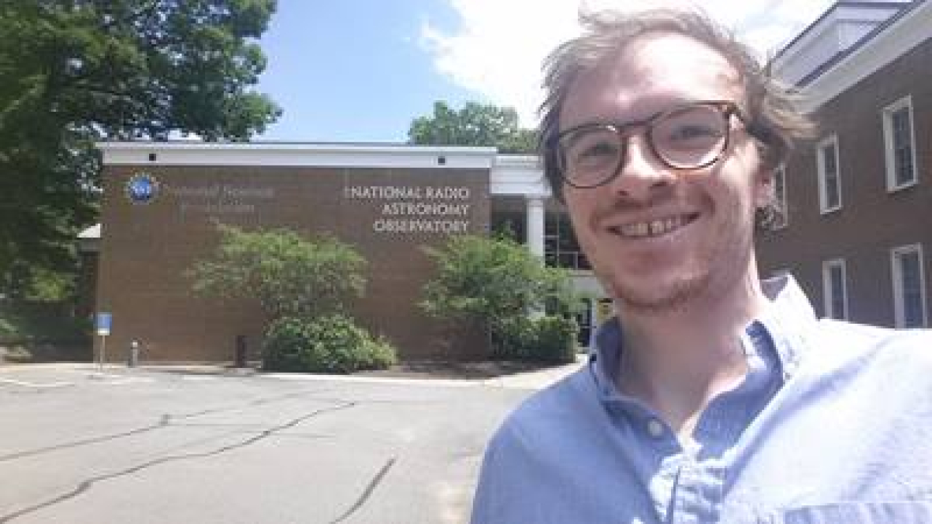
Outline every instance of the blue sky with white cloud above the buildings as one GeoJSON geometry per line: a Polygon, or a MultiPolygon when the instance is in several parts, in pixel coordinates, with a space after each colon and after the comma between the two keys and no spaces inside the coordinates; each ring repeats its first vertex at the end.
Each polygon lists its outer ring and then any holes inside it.
{"type": "MultiPolygon", "coordinates": [[[[537,124],[541,62],[579,33],[579,9],[687,0],[278,0],[256,90],[283,111],[255,140],[404,143],[435,101],[511,106],[537,124]]],[[[705,0],[761,56],[833,0],[705,0]]]]}

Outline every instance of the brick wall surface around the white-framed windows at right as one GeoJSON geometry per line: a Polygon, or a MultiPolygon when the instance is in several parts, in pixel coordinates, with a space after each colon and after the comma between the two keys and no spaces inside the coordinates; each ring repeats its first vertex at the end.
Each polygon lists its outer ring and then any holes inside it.
{"type": "Polygon", "coordinates": [[[822,264],[845,261],[849,320],[893,326],[891,250],[924,249],[926,310],[932,265],[932,38],[819,106],[819,139],[838,137],[841,209],[820,212],[816,144],[786,167],[788,227],[759,235],[761,273],[788,269],[824,314],[822,264]],[[886,186],[884,107],[911,96],[917,184],[886,186]]]}

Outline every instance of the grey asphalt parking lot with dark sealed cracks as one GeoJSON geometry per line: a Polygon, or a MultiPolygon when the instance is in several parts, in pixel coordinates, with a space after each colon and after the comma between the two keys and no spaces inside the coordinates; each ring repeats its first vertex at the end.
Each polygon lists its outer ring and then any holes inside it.
{"type": "Polygon", "coordinates": [[[0,367],[0,523],[464,522],[506,379],[0,367]]]}

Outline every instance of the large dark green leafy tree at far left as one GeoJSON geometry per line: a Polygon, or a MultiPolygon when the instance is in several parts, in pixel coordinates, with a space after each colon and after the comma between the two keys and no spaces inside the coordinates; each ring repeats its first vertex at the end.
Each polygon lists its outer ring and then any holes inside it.
{"type": "Polygon", "coordinates": [[[250,88],[275,0],[0,2],[0,293],[74,266],[101,140],[247,140],[281,110],[250,88]]]}

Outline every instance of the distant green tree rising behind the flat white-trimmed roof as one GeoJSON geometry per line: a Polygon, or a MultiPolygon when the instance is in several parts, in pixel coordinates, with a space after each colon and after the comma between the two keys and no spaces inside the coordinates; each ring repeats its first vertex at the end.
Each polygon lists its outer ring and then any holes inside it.
{"type": "Polygon", "coordinates": [[[502,153],[533,153],[535,131],[521,129],[518,114],[510,107],[468,102],[451,109],[433,103],[433,115],[417,117],[408,130],[408,141],[418,145],[487,145],[502,153]]]}

